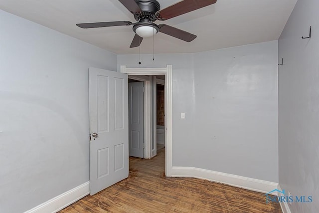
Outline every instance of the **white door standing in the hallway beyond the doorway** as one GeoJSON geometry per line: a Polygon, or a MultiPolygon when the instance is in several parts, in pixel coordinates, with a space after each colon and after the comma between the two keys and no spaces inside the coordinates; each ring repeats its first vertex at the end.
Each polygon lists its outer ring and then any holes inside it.
{"type": "Polygon", "coordinates": [[[144,82],[129,83],[129,155],[144,158],[144,82]]]}

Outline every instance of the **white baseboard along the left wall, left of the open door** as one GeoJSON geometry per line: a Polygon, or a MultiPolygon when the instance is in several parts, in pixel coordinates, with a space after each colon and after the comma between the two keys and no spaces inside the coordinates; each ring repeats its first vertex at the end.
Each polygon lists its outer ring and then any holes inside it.
{"type": "Polygon", "coordinates": [[[34,207],[25,213],[56,213],[90,194],[90,182],[86,182],[72,190],[34,207]]]}

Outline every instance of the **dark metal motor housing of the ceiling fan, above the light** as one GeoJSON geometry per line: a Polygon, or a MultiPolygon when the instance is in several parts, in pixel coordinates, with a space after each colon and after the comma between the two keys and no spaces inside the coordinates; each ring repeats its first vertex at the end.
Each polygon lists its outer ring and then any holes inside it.
{"type": "Polygon", "coordinates": [[[137,21],[149,19],[152,22],[156,20],[155,13],[160,10],[160,3],[157,0],[135,0],[143,11],[142,14],[134,15],[137,21]]]}

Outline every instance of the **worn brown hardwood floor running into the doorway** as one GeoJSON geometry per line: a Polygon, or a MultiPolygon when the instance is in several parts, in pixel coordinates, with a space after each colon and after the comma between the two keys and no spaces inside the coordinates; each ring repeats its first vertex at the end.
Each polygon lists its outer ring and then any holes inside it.
{"type": "Polygon", "coordinates": [[[151,160],[130,157],[129,178],[60,213],[282,213],[263,193],[164,175],[165,149],[151,160]]]}

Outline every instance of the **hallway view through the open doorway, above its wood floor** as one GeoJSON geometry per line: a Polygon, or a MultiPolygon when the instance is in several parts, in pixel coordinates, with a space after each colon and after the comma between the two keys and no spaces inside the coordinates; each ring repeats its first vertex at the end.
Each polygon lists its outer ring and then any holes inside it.
{"type": "Polygon", "coordinates": [[[164,85],[165,75],[129,75],[129,155],[132,157],[150,159],[165,147],[164,85]],[[151,87],[150,93],[145,92],[146,83],[151,87]],[[151,149],[151,155],[146,149],[151,149]]]}

